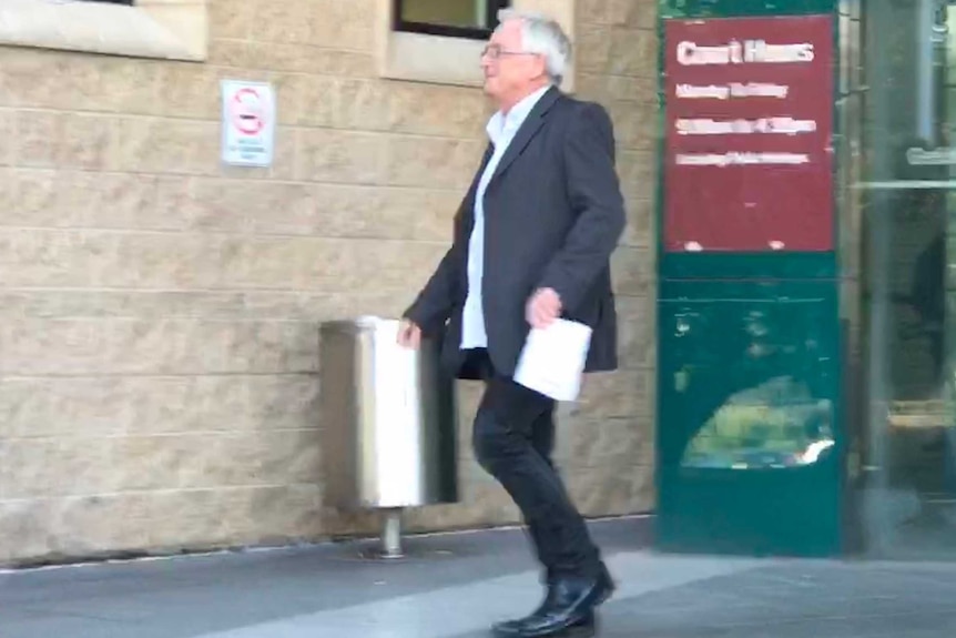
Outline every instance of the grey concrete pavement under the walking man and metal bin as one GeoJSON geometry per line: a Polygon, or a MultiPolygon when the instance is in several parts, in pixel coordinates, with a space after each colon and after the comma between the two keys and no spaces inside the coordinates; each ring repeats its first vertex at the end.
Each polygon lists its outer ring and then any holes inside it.
{"type": "MultiPolygon", "coordinates": [[[[956,565],[661,556],[648,523],[592,524],[618,595],[601,636],[949,638],[956,565]]],[[[538,602],[518,530],[0,574],[2,638],[472,638],[538,602]]]]}

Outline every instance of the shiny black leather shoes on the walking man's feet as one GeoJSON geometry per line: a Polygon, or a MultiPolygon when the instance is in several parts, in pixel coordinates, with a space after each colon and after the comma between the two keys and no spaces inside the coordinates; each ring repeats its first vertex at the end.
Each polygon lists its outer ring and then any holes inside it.
{"type": "Polygon", "coordinates": [[[500,638],[592,636],[594,607],[610,598],[613,589],[607,569],[596,578],[558,578],[538,611],[522,620],[496,625],[494,632],[500,638]]]}

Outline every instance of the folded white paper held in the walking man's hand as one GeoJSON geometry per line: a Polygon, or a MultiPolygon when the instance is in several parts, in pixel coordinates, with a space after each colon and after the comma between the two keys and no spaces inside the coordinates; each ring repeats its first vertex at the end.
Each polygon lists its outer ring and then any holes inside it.
{"type": "Polygon", "coordinates": [[[546,328],[532,328],[518,359],[515,382],[555,401],[574,401],[591,346],[591,328],[557,320],[546,328]]]}

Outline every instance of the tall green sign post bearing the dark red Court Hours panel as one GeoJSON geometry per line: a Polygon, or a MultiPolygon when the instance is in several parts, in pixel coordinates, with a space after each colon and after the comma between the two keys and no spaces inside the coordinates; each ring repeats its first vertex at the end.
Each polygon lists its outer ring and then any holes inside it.
{"type": "Polygon", "coordinates": [[[662,0],[658,530],[844,551],[833,0],[662,0]]]}

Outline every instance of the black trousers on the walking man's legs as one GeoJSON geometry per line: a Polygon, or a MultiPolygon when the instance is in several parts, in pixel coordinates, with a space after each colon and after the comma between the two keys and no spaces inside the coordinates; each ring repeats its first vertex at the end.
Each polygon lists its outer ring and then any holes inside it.
{"type": "Polygon", "coordinates": [[[485,351],[468,359],[486,383],[472,432],[475,456],[521,510],[546,577],[597,576],[600,551],[551,460],[555,402],[497,374],[485,351]]]}

